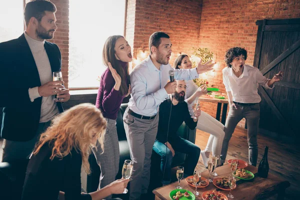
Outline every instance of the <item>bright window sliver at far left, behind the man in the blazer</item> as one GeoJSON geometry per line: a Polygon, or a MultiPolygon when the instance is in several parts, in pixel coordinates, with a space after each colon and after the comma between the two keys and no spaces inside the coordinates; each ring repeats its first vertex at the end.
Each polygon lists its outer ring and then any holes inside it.
{"type": "Polygon", "coordinates": [[[23,31],[23,0],[0,0],[0,42],[17,38],[23,31]]]}

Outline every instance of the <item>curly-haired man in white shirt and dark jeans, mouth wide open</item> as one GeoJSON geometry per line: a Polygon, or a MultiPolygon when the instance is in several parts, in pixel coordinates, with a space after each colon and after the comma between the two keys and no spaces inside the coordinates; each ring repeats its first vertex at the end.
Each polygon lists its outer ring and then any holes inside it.
{"type": "Polygon", "coordinates": [[[241,47],[227,50],[223,69],[223,83],[228,96],[229,112],[225,122],[225,136],[221,150],[221,163],[225,161],[228,143],[237,123],[246,119],[248,131],[249,163],[256,166],[258,148],[257,132],[259,123],[258,84],[267,89],[274,87],[274,82],[282,80],[283,73],[279,71],[272,79],[264,77],[258,68],[245,64],[247,51],[241,47]]]}

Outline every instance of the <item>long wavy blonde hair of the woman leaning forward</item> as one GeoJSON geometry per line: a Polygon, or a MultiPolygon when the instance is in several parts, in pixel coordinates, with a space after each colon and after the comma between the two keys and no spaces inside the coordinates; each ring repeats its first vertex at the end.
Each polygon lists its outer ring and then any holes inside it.
{"type": "Polygon", "coordinates": [[[106,120],[93,104],[75,105],[52,120],[51,125],[41,134],[33,154],[38,153],[46,142],[52,147],[51,160],[54,157],[63,158],[74,148],[80,152],[82,165],[89,174],[88,151],[92,134],[96,134],[103,149],[105,129],[106,120]]]}

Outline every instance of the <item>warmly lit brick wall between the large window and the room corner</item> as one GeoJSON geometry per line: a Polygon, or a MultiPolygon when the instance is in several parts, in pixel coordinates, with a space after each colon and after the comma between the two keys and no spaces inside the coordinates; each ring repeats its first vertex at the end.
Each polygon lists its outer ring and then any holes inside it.
{"type": "Polygon", "coordinates": [[[171,64],[198,46],[201,6],[201,0],[128,0],[125,35],[133,48],[132,67],[149,54],[148,39],[155,31],[170,36],[171,64]]]}

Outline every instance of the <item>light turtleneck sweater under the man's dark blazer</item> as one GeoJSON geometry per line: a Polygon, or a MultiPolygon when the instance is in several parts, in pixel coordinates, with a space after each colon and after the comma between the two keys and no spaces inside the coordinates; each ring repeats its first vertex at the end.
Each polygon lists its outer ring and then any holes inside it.
{"type": "MultiPolygon", "coordinates": [[[[51,65],[47,52],[44,48],[45,41],[35,40],[29,37],[26,32],[24,32],[24,35],[33,55],[41,85],[48,81],[52,81],[51,65]]],[[[38,87],[33,87],[28,89],[31,102],[33,102],[35,98],[40,97],[37,88],[38,87]]],[[[42,97],[39,122],[47,122],[51,120],[55,114],[58,113],[58,108],[53,98],[53,95],[42,97]]]]}

